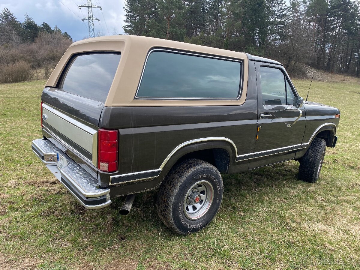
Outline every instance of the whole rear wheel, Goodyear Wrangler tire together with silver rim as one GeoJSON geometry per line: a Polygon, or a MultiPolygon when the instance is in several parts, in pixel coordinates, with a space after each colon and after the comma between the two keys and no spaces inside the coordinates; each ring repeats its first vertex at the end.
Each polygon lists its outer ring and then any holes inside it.
{"type": "Polygon", "coordinates": [[[159,188],[157,211],[172,231],[201,230],[215,216],[222,200],[220,172],[200,159],[186,159],[171,169],[159,188]]]}

